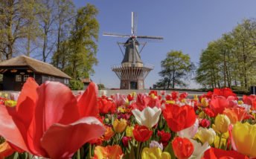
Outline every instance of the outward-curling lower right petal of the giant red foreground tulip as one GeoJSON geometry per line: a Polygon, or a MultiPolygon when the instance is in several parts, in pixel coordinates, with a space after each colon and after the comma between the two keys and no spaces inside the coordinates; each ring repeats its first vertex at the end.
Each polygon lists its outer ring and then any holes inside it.
{"type": "Polygon", "coordinates": [[[83,117],[75,123],[55,123],[42,136],[41,146],[49,158],[71,158],[84,143],[106,132],[95,117],[83,117]]]}

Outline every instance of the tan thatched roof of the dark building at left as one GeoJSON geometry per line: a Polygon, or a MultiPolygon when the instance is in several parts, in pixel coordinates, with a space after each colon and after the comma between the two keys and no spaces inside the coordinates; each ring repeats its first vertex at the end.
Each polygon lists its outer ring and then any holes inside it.
{"type": "Polygon", "coordinates": [[[33,69],[36,73],[48,74],[55,77],[64,77],[71,79],[63,71],[60,71],[58,68],[55,68],[53,65],[39,61],[37,59],[32,59],[28,56],[17,56],[12,59],[7,59],[3,62],[0,62],[0,67],[10,67],[10,66],[28,66],[33,69]]]}

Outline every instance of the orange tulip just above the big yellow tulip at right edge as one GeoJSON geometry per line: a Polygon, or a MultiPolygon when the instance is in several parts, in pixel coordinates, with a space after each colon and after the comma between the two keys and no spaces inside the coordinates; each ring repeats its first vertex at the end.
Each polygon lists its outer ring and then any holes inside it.
{"type": "Polygon", "coordinates": [[[225,108],[225,111],[223,111],[223,114],[228,116],[231,124],[242,121],[246,117],[246,113],[247,111],[244,108],[225,108]]]}

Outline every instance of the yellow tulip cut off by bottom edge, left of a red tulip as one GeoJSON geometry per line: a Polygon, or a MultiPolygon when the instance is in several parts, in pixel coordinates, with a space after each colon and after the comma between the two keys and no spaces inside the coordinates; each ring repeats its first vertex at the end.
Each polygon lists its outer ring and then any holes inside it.
{"type": "Polygon", "coordinates": [[[161,152],[159,147],[145,147],[141,153],[141,159],[170,159],[168,152],[161,152]]]}

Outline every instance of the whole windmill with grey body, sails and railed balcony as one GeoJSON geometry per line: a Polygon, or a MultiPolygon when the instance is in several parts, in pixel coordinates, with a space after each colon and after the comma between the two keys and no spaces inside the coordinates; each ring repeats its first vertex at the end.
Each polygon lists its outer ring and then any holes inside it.
{"type": "Polygon", "coordinates": [[[118,37],[128,37],[127,42],[118,42],[118,46],[121,49],[121,45],[124,47],[124,51],[121,52],[124,55],[124,59],[121,65],[112,65],[112,71],[121,80],[121,89],[144,89],[144,79],[147,74],[153,70],[154,66],[150,64],[145,64],[141,60],[140,53],[144,46],[147,44],[147,40],[152,39],[164,39],[158,36],[135,36],[136,32],[136,14],[132,12],[132,35],[122,35],[114,33],[103,33],[103,36],[118,36],[118,37]],[[144,43],[139,43],[138,41],[146,41],[144,43]],[[139,50],[139,46],[142,48],[139,50]]]}

